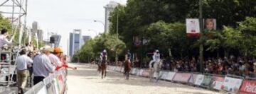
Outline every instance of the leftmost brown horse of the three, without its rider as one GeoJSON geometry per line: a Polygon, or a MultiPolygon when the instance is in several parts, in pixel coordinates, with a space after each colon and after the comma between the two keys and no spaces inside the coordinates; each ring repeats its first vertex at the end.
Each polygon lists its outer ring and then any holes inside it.
{"type": "Polygon", "coordinates": [[[102,72],[102,79],[103,79],[103,76],[104,77],[107,76],[107,57],[105,55],[102,57],[102,61],[99,66],[99,69],[102,72]]]}

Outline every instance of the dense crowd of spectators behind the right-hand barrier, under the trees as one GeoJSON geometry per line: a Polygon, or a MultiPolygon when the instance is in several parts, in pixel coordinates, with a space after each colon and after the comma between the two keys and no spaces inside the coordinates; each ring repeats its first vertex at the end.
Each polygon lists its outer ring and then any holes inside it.
{"type": "MultiPolygon", "coordinates": [[[[256,59],[245,57],[208,58],[203,61],[203,72],[208,74],[256,77],[256,59]]],[[[200,63],[192,59],[165,60],[162,69],[169,71],[199,72],[200,63]]]]}

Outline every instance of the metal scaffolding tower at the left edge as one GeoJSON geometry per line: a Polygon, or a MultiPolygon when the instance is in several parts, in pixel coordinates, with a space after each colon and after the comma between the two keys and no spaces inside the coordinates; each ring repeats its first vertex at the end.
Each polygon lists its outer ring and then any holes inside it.
{"type": "Polygon", "coordinates": [[[6,81],[0,81],[0,84],[5,83],[7,87],[16,83],[14,79],[16,78],[16,57],[18,57],[18,50],[21,45],[21,39],[23,33],[30,32],[26,28],[26,16],[27,16],[27,6],[28,0],[1,0],[0,1],[0,14],[5,18],[11,20],[11,35],[16,35],[18,32],[18,42],[11,43],[11,46],[8,46],[7,49],[1,49],[0,55],[5,54],[6,59],[1,59],[0,65],[1,69],[4,67],[5,73],[0,73],[1,76],[6,77],[6,81]],[[9,56],[9,57],[7,57],[9,56]]]}

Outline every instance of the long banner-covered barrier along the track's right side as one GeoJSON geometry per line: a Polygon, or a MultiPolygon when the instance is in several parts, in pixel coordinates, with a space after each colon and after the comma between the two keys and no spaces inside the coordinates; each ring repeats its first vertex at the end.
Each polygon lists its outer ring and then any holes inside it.
{"type": "MultiPolygon", "coordinates": [[[[119,66],[108,66],[112,71],[122,71],[119,66]]],[[[148,69],[132,68],[131,74],[148,77],[148,69]]],[[[225,93],[256,93],[256,78],[244,78],[233,75],[200,74],[190,72],[160,71],[160,78],[165,81],[186,83],[209,90],[218,90],[225,93]]]]}

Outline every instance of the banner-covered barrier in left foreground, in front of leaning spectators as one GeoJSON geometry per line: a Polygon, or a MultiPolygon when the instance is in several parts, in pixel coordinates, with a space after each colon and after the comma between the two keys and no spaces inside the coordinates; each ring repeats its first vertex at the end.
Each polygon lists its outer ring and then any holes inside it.
{"type": "Polygon", "coordinates": [[[66,93],[66,69],[55,71],[25,94],[64,94],[66,93]]]}

